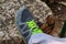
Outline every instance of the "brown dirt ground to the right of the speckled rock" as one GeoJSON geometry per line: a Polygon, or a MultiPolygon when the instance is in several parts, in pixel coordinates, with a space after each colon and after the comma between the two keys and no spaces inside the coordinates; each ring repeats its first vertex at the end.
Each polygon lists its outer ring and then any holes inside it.
{"type": "MultiPolygon", "coordinates": [[[[54,2],[47,3],[47,6],[51,8],[53,14],[57,18],[54,32],[55,32],[55,34],[56,34],[56,32],[58,32],[57,35],[59,35],[61,34],[59,31],[62,30],[63,23],[66,20],[66,1],[65,0],[58,0],[58,1],[55,0],[54,2]]],[[[65,35],[65,37],[66,37],[66,35],[65,35]]]]}

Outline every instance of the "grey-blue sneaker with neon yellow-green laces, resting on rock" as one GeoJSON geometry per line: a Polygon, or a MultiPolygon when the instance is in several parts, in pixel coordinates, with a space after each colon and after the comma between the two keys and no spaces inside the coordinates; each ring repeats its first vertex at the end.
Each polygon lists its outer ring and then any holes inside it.
{"type": "Polygon", "coordinates": [[[32,16],[32,14],[30,13],[25,6],[23,6],[19,10],[18,15],[15,16],[15,24],[25,44],[28,44],[31,35],[42,33],[42,31],[34,22],[34,18],[32,16]]]}

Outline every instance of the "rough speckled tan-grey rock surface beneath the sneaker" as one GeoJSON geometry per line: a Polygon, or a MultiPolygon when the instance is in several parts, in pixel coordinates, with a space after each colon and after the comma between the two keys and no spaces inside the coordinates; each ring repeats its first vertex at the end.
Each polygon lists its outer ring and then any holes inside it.
{"type": "Polygon", "coordinates": [[[31,13],[44,22],[44,18],[52,14],[51,9],[40,0],[0,0],[0,44],[23,44],[16,30],[14,16],[22,6],[26,6],[31,13]],[[42,18],[42,19],[41,19],[42,18]]]}

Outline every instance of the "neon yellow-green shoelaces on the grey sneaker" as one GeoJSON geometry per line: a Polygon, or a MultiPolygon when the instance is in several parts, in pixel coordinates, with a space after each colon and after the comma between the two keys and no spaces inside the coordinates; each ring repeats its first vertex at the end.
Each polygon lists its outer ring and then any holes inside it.
{"type": "Polygon", "coordinates": [[[30,22],[26,22],[26,24],[32,31],[32,35],[36,33],[42,33],[42,30],[36,25],[36,23],[33,20],[30,22]]]}

